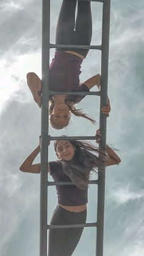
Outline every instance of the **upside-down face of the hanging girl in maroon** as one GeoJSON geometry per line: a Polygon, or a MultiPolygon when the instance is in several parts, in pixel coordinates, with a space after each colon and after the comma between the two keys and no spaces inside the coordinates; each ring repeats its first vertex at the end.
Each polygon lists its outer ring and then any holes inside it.
{"type": "Polygon", "coordinates": [[[54,128],[63,128],[68,125],[70,121],[70,111],[67,104],[56,104],[54,105],[51,122],[54,128]]]}

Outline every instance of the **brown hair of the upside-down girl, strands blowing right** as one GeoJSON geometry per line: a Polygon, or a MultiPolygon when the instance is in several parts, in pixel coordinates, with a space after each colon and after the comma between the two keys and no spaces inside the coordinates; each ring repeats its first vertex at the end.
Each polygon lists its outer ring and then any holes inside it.
{"type": "MultiPolygon", "coordinates": [[[[85,119],[88,119],[90,120],[93,124],[95,124],[95,120],[91,119],[90,117],[88,117],[87,114],[83,113],[81,109],[76,109],[72,104],[71,102],[69,101],[65,101],[65,104],[67,104],[69,110],[71,113],[73,113],[74,115],[76,115],[76,117],[84,117],[85,119]]],[[[54,101],[51,99],[49,100],[49,122],[51,123],[51,126],[53,128],[56,128],[56,129],[62,129],[63,126],[61,125],[56,125],[53,120],[52,120],[52,111],[53,111],[53,108],[54,108],[54,101]]],[[[71,115],[69,116],[69,119],[68,119],[68,123],[70,122],[70,117],[71,115]]]]}

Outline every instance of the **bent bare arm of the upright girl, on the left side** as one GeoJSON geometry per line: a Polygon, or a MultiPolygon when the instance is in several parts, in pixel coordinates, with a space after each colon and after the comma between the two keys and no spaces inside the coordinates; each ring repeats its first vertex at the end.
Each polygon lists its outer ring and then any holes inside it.
{"type": "MultiPolygon", "coordinates": [[[[32,164],[36,156],[40,153],[40,145],[24,160],[24,162],[20,166],[20,170],[22,172],[30,172],[32,174],[39,174],[40,173],[40,163],[32,164]]],[[[48,165],[49,171],[49,165],[48,165]]]]}

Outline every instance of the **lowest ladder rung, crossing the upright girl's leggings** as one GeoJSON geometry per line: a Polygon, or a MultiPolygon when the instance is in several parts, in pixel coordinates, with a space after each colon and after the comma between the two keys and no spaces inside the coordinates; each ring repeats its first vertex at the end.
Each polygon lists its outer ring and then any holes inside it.
{"type": "Polygon", "coordinates": [[[47,225],[47,229],[70,229],[76,227],[97,227],[97,222],[75,225],[47,225]]]}

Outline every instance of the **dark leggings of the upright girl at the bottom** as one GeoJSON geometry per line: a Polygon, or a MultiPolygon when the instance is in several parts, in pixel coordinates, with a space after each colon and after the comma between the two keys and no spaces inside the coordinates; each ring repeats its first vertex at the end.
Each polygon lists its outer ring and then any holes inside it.
{"type": "MultiPolygon", "coordinates": [[[[50,224],[84,224],[86,218],[87,210],[73,213],[57,205],[50,224]]],[[[81,238],[83,229],[84,228],[49,230],[48,256],[71,256],[81,238]]]]}

